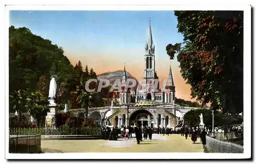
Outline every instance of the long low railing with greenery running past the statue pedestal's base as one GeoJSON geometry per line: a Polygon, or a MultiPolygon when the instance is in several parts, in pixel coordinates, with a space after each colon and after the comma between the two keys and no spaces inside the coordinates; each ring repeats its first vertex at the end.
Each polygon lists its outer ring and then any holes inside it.
{"type": "Polygon", "coordinates": [[[49,127],[9,129],[9,135],[100,135],[100,127],[49,127]]]}

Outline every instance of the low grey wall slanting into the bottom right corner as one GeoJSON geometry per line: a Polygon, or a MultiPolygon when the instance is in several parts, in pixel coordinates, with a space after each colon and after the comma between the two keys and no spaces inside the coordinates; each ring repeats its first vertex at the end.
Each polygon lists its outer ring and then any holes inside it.
{"type": "Polygon", "coordinates": [[[206,148],[211,153],[243,153],[244,148],[241,145],[220,141],[206,136],[206,148]]]}

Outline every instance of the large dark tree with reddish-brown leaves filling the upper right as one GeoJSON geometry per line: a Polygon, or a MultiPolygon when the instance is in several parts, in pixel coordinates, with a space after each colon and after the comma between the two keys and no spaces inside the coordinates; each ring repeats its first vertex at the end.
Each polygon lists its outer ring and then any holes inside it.
{"type": "Polygon", "coordinates": [[[243,111],[243,11],[175,11],[184,42],[168,44],[178,53],[191,97],[215,110],[243,111]]]}

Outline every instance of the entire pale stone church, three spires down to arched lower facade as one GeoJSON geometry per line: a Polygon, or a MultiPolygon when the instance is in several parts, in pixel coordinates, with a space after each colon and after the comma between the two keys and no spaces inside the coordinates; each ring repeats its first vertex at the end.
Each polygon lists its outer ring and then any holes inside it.
{"type": "MultiPolygon", "coordinates": [[[[175,86],[171,67],[169,67],[166,87],[159,89],[159,82],[156,80],[158,76],[151,24],[147,31],[144,68],[143,79],[146,81],[145,85],[141,88],[137,87],[136,90],[125,90],[127,73],[124,67],[121,80],[122,89],[113,98],[111,106],[89,108],[89,118],[93,118],[98,124],[114,127],[120,127],[121,125],[135,126],[136,124],[152,128],[169,127],[175,129],[181,127],[184,123],[184,114],[190,110],[195,110],[195,108],[175,104],[175,86]],[[113,103],[114,99],[118,103],[113,103]]],[[[82,109],[76,109],[70,110],[70,112],[79,114],[79,110],[83,111],[82,109]]]]}

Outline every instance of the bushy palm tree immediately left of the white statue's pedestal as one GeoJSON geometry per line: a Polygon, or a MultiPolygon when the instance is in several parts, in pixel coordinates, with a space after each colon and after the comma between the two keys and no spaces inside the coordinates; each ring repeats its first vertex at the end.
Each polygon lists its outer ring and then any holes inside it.
{"type": "Polygon", "coordinates": [[[47,112],[50,112],[49,101],[40,92],[32,92],[27,101],[28,112],[35,118],[36,126],[39,127],[42,118],[47,116],[47,112]]]}

